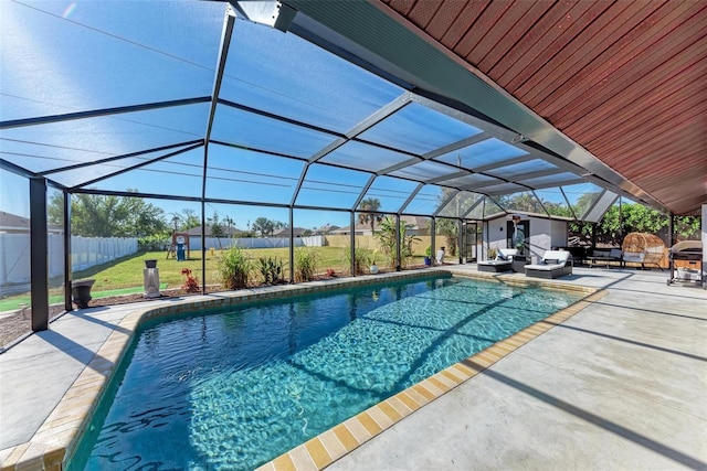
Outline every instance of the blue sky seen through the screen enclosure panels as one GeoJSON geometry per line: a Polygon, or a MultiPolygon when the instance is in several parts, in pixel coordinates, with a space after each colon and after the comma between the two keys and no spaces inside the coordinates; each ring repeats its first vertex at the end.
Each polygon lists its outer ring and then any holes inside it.
{"type": "MultiPolygon", "coordinates": [[[[212,92],[224,3],[23,1],[0,3],[0,13],[2,121],[207,97],[212,92]]],[[[207,197],[289,204],[306,159],[335,142],[335,133],[349,131],[404,93],[398,85],[294,34],[236,21],[220,97],[310,127],[219,105],[211,139],[226,146],[209,146],[207,197]],[[267,149],[275,156],[250,149],[267,149]]],[[[186,149],[186,142],[203,138],[209,113],[210,105],[201,103],[9,128],[0,131],[0,157],[43,172],[184,143],[170,151],[48,175],[71,188],[186,149]]],[[[360,135],[383,147],[349,141],[321,162],[378,172],[409,160],[405,152],[421,156],[481,132],[413,103],[360,135]]],[[[498,139],[488,139],[439,156],[436,162],[398,170],[393,175],[444,176],[457,171],[444,163],[473,168],[524,153],[527,152],[498,139]]],[[[200,197],[203,156],[203,148],[193,149],[88,188],[200,197]]],[[[538,163],[548,165],[534,160],[516,164],[517,171],[545,168],[538,168],[538,163]]],[[[0,180],[0,210],[27,215],[27,190],[21,189],[27,188],[27,181],[6,173],[0,180]]],[[[350,208],[369,178],[370,173],[362,171],[313,164],[296,204],[350,208]]],[[[394,212],[416,186],[414,181],[379,176],[365,196],[378,197],[382,211],[394,212]]],[[[544,193],[542,197],[550,201],[560,196],[559,192],[544,193]]],[[[409,211],[435,211],[441,194],[439,186],[426,185],[409,211]]],[[[200,213],[200,204],[150,202],[168,214],[183,207],[200,213]]],[[[243,205],[238,211],[209,205],[208,216],[214,207],[222,217],[235,220],[240,228],[260,216],[287,221],[285,210],[243,205]]],[[[319,216],[303,212],[297,220],[295,224],[303,227],[348,225],[348,213],[319,216]]]]}

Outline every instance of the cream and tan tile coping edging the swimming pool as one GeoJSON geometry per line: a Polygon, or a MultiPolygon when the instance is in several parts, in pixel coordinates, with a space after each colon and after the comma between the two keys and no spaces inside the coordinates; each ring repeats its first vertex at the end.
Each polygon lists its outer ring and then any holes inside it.
{"type": "Polygon", "coordinates": [[[61,471],[73,453],[110,378],[127,352],[140,323],[150,319],[172,317],[194,310],[238,307],[268,299],[307,296],[352,286],[377,285],[384,281],[424,279],[451,272],[467,278],[493,279],[516,286],[542,286],[546,289],[578,291],[588,295],[581,301],[545,320],[517,332],[490,347],[395,394],[382,403],[351,417],[312,440],[289,450],[260,470],[319,470],[349,453],[383,430],[408,417],[425,404],[444,395],[460,384],[486,370],[514,350],[569,319],[605,295],[603,290],[563,285],[556,281],[527,280],[513,275],[449,270],[411,270],[378,276],[363,276],[302,285],[264,287],[232,292],[205,295],[170,302],[169,306],[138,307],[128,313],[98,349],[73,385],[64,394],[38,431],[25,443],[0,450],[0,471],[61,471]]]}

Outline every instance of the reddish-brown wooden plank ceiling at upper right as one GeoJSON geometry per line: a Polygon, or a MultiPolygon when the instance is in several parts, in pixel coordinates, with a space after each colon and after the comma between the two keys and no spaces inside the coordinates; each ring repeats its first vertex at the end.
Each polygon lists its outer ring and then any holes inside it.
{"type": "Polygon", "coordinates": [[[380,1],[672,213],[707,203],[707,1],[380,1]]]}

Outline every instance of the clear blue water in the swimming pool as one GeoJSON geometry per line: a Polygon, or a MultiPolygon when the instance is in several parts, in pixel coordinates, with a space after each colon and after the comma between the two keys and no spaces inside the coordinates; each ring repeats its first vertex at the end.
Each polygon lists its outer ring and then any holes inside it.
{"type": "Polygon", "coordinates": [[[253,469],[579,298],[436,278],[147,325],[70,469],[253,469]]]}

